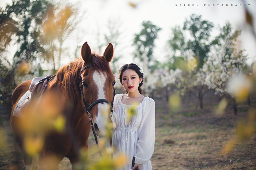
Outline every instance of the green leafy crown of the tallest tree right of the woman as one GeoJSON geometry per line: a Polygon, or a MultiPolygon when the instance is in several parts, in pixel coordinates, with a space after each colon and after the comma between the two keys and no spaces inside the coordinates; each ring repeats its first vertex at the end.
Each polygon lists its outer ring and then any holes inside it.
{"type": "Polygon", "coordinates": [[[190,19],[186,19],[184,22],[182,30],[180,26],[173,27],[172,37],[167,41],[167,48],[170,49],[171,53],[169,55],[169,68],[174,70],[180,68],[180,58],[187,61],[190,50],[198,60],[197,69],[201,68],[210,47],[216,43],[216,41],[209,40],[213,26],[212,22],[203,20],[201,15],[192,14],[190,19]],[[190,33],[190,38],[185,37],[186,31],[190,33]]]}

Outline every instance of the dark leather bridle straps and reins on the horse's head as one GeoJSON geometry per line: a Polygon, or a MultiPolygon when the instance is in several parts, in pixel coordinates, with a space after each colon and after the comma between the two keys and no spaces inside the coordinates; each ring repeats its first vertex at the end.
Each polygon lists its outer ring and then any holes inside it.
{"type": "MultiPolygon", "coordinates": [[[[81,72],[83,72],[85,69],[90,68],[90,67],[91,67],[91,64],[85,66],[84,68],[81,69],[81,72]]],[[[114,98],[115,98],[115,87],[114,87],[114,91],[113,91],[113,93],[114,93],[113,94],[113,100],[112,100],[111,103],[108,100],[106,100],[106,99],[98,99],[98,100],[94,101],[90,106],[88,106],[88,104],[86,103],[85,98],[84,98],[84,92],[83,92],[83,87],[82,87],[82,76],[81,75],[80,75],[79,80],[78,80],[79,81],[79,88],[80,88],[81,96],[83,97],[83,103],[84,103],[85,112],[86,112],[86,114],[88,115],[88,117],[90,119],[88,124],[91,123],[92,133],[94,135],[95,142],[96,142],[97,147],[98,147],[99,152],[100,152],[97,135],[96,135],[96,132],[95,132],[95,130],[93,128],[92,115],[90,113],[90,110],[96,104],[98,104],[98,103],[103,104],[105,102],[105,103],[108,103],[111,106],[110,112],[111,112],[111,116],[112,116],[112,114],[113,114],[113,103],[114,103],[114,98]]],[[[109,144],[110,144],[110,147],[112,148],[112,138],[110,138],[109,144]]],[[[101,152],[100,152],[100,156],[102,157],[101,152]]],[[[111,154],[111,158],[113,159],[113,154],[111,154]]]]}

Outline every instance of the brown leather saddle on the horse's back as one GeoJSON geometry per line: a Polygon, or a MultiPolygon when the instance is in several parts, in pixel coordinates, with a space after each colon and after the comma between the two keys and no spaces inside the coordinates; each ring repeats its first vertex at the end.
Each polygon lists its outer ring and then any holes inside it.
{"type": "Polygon", "coordinates": [[[31,99],[34,100],[36,97],[39,97],[44,93],[44,90],[47,87],[47,84],[55,77],[56,75],[48,75],[46,77],[35,77],[32,79],[31,84],[29,86],[29,91],[31,92],[30,97],[27,98],[27,100],[24,101],[22,104],[20,110],[21,113],[24,112],[24,109],[26,109],[31,99]]]}

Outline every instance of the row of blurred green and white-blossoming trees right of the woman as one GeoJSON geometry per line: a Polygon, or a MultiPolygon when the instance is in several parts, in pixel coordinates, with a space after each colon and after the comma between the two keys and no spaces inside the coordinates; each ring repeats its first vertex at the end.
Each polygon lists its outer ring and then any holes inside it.
{"type": "Polygon", "coordinates": [[[146,92],[154,94],[163,88],[167,99],[173,92],[181,97],[190,93],[197,97],[197,106],[203,108],[204,94],[212,89],[226,105],[233,105],[235,115],[237,101],[248,100],[250,104],[253,64],[247,65],[247,55],[239,48],[241,30],[234,30],[226,22],[219,27],[219,35],[212,37],[213,23],[193,14],[182,28],[172,28],[166,45],[167,60],[159,63],[152,49],[161,28],[150,22],[143,22],[142,26],[142,31],[135,35],[134,57],[150,72],[146,76],[146,92]]]}

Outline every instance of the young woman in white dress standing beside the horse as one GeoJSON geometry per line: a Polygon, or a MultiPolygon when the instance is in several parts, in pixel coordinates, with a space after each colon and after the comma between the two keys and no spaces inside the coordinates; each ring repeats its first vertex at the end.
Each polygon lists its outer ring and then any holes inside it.
{"type": "MultiPolygon", "coordinates": [[[[128,164],[124,170],[152,170],[150,158],[155,144],[155,102],[141,95],[143,70],[136,64],[125,64],[118,72],[119,80],[124,86],[125,94],[116,94],[114,100],[114,117],[116,127],[112,142],[117,153],[127,157],[128,164]],[[135,108],[132,118],[131,108],[135,108]],[[132,159],[134,166],[132,167],[132,159]]],[[[114,154],[115,156],[115,154],[114,154]]]]}

